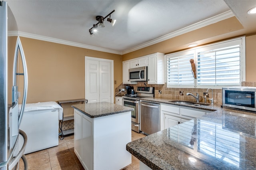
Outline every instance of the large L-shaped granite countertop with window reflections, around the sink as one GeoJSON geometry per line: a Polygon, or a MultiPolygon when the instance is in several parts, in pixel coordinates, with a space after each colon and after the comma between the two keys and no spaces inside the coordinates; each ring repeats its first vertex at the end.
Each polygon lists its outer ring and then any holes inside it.
{"type": "MultiPolygon", "coordinates": [[[[170,99],[142,100],[171,104],[170,99]]],[[[256,169],[256,114],[204,107],[213,112],[134,140],[126,150],[154,170],[256,169]]]]}

